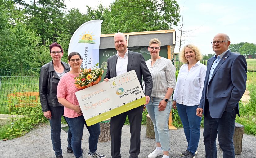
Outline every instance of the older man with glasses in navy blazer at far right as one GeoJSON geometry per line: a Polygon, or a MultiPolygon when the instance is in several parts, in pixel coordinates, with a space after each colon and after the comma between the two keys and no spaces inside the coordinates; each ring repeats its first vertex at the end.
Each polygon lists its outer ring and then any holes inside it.
{"type": "Polygon", "coordinates": [[[207,62],[204,89],[196,110],[204,113],[205,157],[216,158],[216,138],[223,151],[223,158],[234,158],[233,135],[235,117],[239,116],[238,102],[246,89],[247,63],[243,55],[232,53],[228,48],[229,37],[217,34],[212,42],[215,56],[207,62]]]}

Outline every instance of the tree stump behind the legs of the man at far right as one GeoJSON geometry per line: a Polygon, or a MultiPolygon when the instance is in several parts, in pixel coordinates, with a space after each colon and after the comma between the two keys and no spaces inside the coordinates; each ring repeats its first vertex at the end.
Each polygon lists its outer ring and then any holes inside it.
{"type": "Polygon", "coordinates": [[[234,140],[234,148],[235,148],[236,155],[241,154],[242,152],[243,135],[244,135],[244,126],[239,123],[235,123],[233,140],[234,140]]]}

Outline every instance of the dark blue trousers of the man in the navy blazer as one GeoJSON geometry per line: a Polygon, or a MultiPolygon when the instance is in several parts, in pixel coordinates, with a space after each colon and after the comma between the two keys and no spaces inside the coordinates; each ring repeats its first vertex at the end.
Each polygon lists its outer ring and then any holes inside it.
{"type": "Polygon", "coordinates": [[[204,146],[206,158],[217,158],[216,138],[223,151],[223,158],[234,158],[235,149],[233,136],[235,130],[236,112],[224,111],[221,118],[212,118],[209,112],[208,101],[204,106],[204,146]]]}

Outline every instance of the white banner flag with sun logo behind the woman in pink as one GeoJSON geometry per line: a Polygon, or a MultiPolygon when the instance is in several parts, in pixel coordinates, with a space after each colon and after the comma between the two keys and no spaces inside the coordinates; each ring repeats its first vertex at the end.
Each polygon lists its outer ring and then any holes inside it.
{"type": "Polygon", "coordinates": [[[82,57],[81,68],[92,68],[99,63],[101,23],[103,20],[91,20],[82,24],[73,34],[69,43],[69,52],[78,52],[82,57]]]}

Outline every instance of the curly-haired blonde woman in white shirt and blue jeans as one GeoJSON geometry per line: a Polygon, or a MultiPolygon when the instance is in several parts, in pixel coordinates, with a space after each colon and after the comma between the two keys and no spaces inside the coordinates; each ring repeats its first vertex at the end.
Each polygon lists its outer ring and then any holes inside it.
{"type": "Polygon", "coordinates": [[[178,109],[188,148],[182,152],[182,158],[193,158],[200,138],[201,117],[196,109],[202,96],[206,66],[200,63],[202,55],[198,47],[186,45],[180,52],[179,60],[186,63],[181,66],[173,94],[173,108],[178,109]]]}

